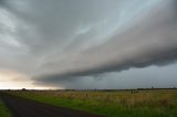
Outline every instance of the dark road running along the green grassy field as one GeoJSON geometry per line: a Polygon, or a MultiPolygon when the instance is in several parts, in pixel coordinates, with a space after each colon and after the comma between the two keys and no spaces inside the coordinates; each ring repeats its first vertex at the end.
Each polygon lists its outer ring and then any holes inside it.
{"type": "Polygon", "coordinates": [[[13,117],[103,117],[4,94],[2,99],[12,111],[13,117]]]}

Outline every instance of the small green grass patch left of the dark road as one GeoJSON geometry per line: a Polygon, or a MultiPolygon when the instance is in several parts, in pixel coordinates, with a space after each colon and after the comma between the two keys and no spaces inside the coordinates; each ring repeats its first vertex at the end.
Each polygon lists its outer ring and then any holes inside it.
{"type": "Polygon", "coordinates": [[[3,104],[3,102],[0,99],[0,117],[11,117],[10,111],[3,104]]]}

